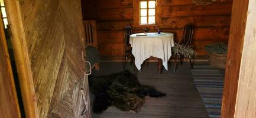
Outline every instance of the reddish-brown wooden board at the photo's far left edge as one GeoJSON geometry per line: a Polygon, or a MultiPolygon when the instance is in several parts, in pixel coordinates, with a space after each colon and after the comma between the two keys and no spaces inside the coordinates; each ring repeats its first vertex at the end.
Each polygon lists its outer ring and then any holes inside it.
{"type": "Polygon", "coordinates": [[[0,14],[0,117],[1,118],[21,117],[1,14],[0,14]]]}

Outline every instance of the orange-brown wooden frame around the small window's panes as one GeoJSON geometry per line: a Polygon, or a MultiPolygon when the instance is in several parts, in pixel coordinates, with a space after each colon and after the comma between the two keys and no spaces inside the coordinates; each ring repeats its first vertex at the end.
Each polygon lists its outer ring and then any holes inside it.
{"type": "MultiPolygon", "coordinates": [[[[140,27],[145,25],[153,25],[153,24],[140,24],[140,2],[141,1],[150,1],[150,0],[133,0],[133,9],[134,9],[134,25],[133,27],[140,27]]],[[[162,0],[155,0],[155,24],[162,25],[161,21],[161,11],[162,11],[162,0]]],[[[148,9],[148,8],[147,8],[148,9]]],[[[147,12],[148,14],[148,12],[147,12]]]]}

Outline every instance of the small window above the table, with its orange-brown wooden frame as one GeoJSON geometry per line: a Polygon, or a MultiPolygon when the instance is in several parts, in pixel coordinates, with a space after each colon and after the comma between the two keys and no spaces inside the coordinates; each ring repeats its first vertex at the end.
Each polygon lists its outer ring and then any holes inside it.
{"type": "Polygon", "coordinates": [[[133,0],[134,27],[161,25],[162,0],[133,0]]]}

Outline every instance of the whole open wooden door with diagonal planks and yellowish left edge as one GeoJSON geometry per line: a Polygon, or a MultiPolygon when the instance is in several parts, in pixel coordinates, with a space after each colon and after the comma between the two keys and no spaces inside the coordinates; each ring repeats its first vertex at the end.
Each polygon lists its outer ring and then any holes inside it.
{"type": "Polygon", "coordinates": [[[5,2],[26,117],[90,117],[80,0],[5,2]]]}

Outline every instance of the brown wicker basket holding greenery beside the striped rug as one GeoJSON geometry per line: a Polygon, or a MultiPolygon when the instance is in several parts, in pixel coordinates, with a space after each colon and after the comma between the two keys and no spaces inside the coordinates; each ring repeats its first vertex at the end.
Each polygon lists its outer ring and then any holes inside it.
{"type": "Polygon", "coordinates": [[[226,65],[226,54],[210,53],[209,64],[218,68],[225,68],[226,65]]]}

